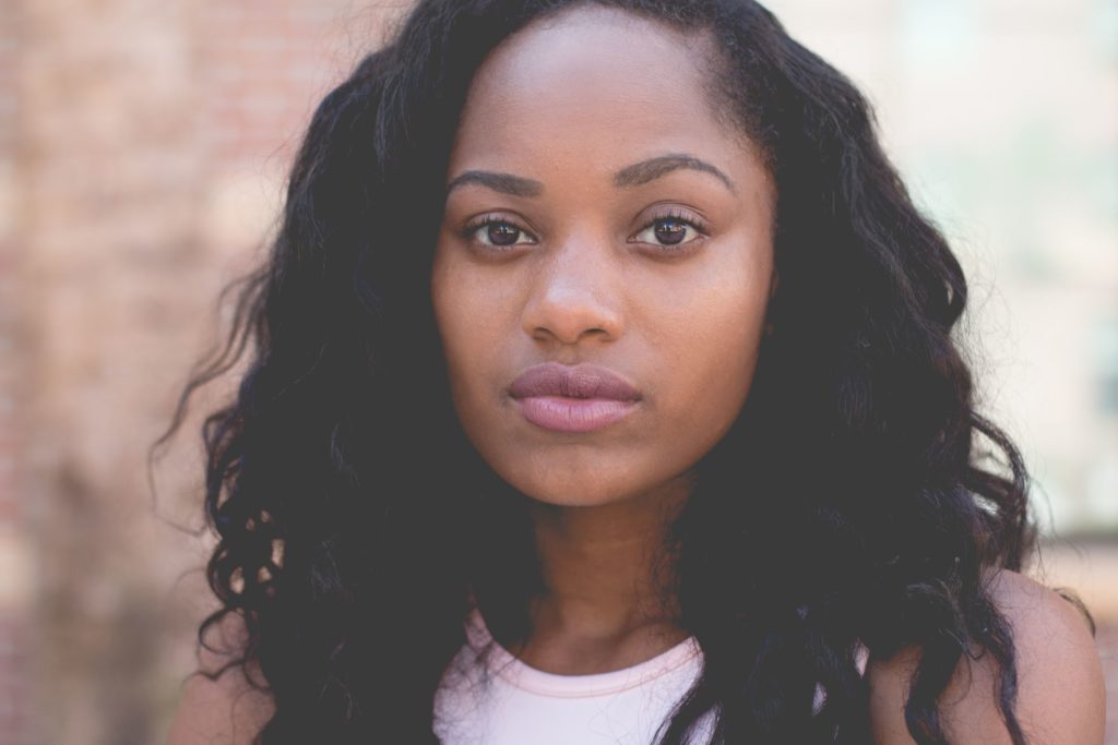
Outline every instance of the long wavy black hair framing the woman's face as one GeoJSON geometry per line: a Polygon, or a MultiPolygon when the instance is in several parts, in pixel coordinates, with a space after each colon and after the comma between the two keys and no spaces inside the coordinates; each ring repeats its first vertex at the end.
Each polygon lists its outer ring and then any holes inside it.
{"type": "MultiPolygon", "coordinates": [[[[716,742],[869,742],[861,641],[920,650],[904,704],[918,743],[946,742],[937,697],[963,656],[991,653],[1021,745],[1013,636],[988,583],[1034,543],[1027,474],[975,410],[951,334],[963,270],[869,104],[750,0],[593,3],[712,40],[711,101],[777,187],[774,333],[665,546],[704,667],[661,742],[710,709],[716,742]]],[[[524,621],[539,579],[523,499],[454,414],[429,277],[475,70],[533,19],[586,4],[420,0],[318,107],[271,257],[182,393],[168,434],[250,355],[203,427],[221,608],[198,636],[243,617],[230,665],[266,678],[265,744],[437,742],[433,697],[470,593],[494,625],[524,621]]]]}

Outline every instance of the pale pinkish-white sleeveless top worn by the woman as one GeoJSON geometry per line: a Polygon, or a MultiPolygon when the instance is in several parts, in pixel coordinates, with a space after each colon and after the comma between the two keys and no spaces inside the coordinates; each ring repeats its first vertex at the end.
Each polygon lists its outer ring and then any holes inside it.
{"type": "MultiPolygon", "coordinates": [[[[443,745],[650,745],[702,668],[693,637],[622,670],[566,676],[510,655],[476,610],[466,636],[435,697],[443,745]]],[[[866,657],[859,657],[863,672],[866,657]]],[[[823,698],[816,689],[816,708],[823,698]]],[[[712,725],[713,711],[692,728],[691,742],[708,743],[712,725]]]]}

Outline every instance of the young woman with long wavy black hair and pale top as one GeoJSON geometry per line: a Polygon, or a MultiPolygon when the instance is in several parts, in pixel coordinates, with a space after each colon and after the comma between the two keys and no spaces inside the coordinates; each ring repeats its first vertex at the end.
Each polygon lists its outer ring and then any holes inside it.
{"type": "Polygon", "coordinates": [[[1101,743],[966,297],[759,4],[420,0],[183,394],[250,350],[171,742],[1101,743]]]}

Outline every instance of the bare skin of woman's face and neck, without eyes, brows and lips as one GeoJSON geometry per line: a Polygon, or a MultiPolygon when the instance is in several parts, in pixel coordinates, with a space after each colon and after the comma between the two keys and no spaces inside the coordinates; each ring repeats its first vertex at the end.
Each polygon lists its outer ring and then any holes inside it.
{"type": "Polygon", "coordinates": [[[697,48],[608,9],[532,25],[475,76],[447,168],[448,184],[473,171],[539,182],[533,195],[475,181],[451,190],[432,297],[465,432],[534,502],[549,592],[520,653],[549,671],[615,669],[679,641],[652,579],[659,528],[740,411],[757,362],[775,190],[704,99],[697,48]],[[679,154],[732,185],[686,168],[615,183],[679,154]],[[702,230],[672,246],[672,227],[654,222],[669,214],[702,230]],[[485,227],[463,236],[485,216],[517,245],[486,245],[485,227]],[[548,361],[605,365],[642,399],[594,432],[542,429],[506,389],[548,361]]]}

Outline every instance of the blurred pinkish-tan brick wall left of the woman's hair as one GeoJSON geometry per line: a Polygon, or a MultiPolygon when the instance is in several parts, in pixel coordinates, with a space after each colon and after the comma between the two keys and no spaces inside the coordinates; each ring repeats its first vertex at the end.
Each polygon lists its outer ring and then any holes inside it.
{"type": "Polygon", "coordinates": [[[378,19],[0,1],[0,744],[163,739],[208,602],[207,539],[174,527],[200,524],[196,422],[157,505],[146,449],[378,19]]]}

